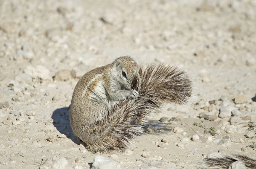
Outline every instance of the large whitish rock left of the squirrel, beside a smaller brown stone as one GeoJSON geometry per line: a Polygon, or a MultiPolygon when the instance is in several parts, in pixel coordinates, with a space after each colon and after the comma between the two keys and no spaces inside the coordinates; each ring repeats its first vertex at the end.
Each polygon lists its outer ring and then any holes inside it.
{"type": "Polygon", "coordinates": [[[37,79],[37,78],[42,79],[42,80],[52,79],[52,77],[50,76],[50,71],[41,65],[28,66],[24,70],[24,73],[29,74],[34,79],[37,79]]]}

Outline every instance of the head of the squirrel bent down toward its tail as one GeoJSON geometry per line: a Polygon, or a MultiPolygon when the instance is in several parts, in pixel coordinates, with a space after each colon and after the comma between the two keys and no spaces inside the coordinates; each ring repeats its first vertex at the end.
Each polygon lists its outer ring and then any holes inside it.
{"type": "Polygon", "coordinates": [[[137,70],[137,63],[131,57],[119,57],[113,62],[111,71],[115,81],[124,89],[131,89],[131,74],[137,70]]]}

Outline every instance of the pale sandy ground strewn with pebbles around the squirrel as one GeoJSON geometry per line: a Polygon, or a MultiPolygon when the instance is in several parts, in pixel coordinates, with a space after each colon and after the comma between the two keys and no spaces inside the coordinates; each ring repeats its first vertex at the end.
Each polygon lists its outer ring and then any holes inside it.
{"type": "Polygon", "coordinates": [[[73,137],[67,107],[81,75],[121,55],[186,70],[197,99],[164,106],[130,149],[105,157],[123,169],[256,158],[255,46],[256,0],[2,0],[0,168],[88,169],[95,154],[73,137]]]}

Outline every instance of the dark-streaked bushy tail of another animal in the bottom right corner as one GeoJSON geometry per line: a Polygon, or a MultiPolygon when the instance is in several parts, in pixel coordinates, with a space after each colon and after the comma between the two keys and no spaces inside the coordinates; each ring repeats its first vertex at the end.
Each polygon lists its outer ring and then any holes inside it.
{"type": "Polygon", "coordinates": [[[205,158],[203,169],[228,169],[236,161],[244,164],[248,169],[256,169],[256,160],[245,155],[221,155],[220,157],[205,158]]]}

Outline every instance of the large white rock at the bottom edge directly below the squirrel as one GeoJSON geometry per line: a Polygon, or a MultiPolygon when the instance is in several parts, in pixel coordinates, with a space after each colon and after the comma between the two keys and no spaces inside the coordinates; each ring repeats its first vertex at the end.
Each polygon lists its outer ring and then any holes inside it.
{"type": "Polygon", "coordinates": [[[96,155],[93,158],[91,169],[121,169],[121,166],[114,160],[105,158],[102,155],[96,155]]]}

